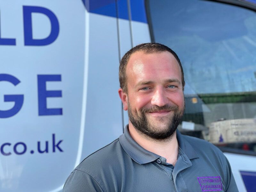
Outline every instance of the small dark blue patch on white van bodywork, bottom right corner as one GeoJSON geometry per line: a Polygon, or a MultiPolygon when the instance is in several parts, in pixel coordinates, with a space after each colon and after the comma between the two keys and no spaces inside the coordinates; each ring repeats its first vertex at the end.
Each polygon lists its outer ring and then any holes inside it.
{"type": "Polygon", "coordinates": [[[240,171],[247,192],[256,191],[256,172],[240,171]]]}

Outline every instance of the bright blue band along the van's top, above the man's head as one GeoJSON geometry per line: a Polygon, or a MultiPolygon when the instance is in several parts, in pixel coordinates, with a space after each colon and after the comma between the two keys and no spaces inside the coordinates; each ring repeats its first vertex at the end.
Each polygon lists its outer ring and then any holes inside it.
{"type": "MultiPolygon", "coordinates": [[[[117,17],[115,0],[82,0],[88,12],[117,17]]],[[[130,0],[133,21],[148,23],[144,0],[130,0]]],[[[127,0],[117,0],[118,18],[129,20],[127,0]]]]}

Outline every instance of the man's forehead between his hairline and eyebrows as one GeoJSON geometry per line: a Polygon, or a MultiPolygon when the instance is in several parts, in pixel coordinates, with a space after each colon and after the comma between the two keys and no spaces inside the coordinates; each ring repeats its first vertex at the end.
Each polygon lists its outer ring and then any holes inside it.
{"type": "Polygon", "coordinates": [[[178,61],[172,53],[138,51],[132,53],[126,67],[127,81],[134,78],[175,77],[181,80],[178,61]]]}

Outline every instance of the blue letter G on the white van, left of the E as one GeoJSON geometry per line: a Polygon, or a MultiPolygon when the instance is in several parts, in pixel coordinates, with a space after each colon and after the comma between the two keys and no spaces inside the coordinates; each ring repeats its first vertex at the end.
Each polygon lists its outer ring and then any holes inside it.
{"type": "MultiPolygon", "coordinates": [[[[8,81],[14,86],[20,83],[19,79],[8,74],[0,74],[0,81],[8,81]]],[[[18,113],[23,105],[23,100],[24,95],[4,95],[4,102],[14,101],[14,107],[6,111],[0,110],[0,118],[11,117],[18,113]]]]}

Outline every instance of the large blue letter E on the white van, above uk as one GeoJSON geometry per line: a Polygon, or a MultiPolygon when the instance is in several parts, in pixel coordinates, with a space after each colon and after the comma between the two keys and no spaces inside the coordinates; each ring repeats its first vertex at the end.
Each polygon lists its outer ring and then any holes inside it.
{"type": "Polygon", "coordinates": [[[38,115],[62,115],[62,108],[47,108],[47,97],[62,97],[61,91],[47,91],[47,81],[61,81],[61,75],[37,75],[38,115]]]}

